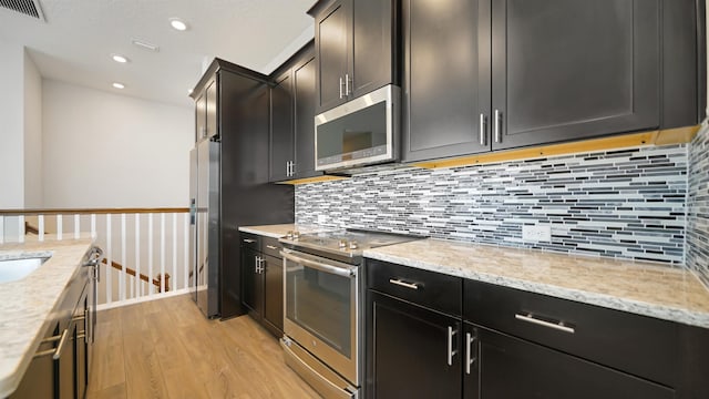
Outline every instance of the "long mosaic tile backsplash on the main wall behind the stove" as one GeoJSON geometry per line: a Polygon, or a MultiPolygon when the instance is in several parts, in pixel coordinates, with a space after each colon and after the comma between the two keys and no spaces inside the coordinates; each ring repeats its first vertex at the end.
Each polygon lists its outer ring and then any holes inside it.
{"type": "Polygon", "coordinates": [[[362,174],[296,186],[296,223],[679,266],[687,157],[670,145],[362,174]],[[523,226],[552,239],[523,241],[523,226]]]}

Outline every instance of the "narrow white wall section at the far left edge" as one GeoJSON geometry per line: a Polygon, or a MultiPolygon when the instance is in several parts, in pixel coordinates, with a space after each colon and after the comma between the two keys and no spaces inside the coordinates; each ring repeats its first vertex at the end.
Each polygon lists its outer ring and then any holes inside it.
{"type": "Polygon", "coordinates": [[[0,208],[24,205],[24,49],[0,40],[0,208]]]}

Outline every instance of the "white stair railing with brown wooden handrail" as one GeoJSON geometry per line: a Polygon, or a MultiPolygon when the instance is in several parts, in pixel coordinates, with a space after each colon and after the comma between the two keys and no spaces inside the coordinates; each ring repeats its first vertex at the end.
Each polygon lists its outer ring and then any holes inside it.
{"type": "Polygon", "coordinates": [[[100,309],[189,291],[188,208],[0,211],[0,244],[89,235],[105,256],[100,309]]]}

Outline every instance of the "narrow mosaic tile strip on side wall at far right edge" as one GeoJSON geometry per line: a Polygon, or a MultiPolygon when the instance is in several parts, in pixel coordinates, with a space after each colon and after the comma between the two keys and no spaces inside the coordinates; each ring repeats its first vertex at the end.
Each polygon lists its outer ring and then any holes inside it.
{"type": "Polygon", "coordinates": [[[689,147],[687,266],[709,287],[709,126],[689,147]]]}

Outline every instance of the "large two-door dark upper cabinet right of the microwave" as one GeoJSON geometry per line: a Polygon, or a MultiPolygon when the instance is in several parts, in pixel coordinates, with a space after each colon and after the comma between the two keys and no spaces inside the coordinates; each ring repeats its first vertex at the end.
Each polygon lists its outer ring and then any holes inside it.
{"type": "Polygon", "coordinates": [[[403,160],[697,124],[702,10],[696,0],[404,0],[403,160]]]}

